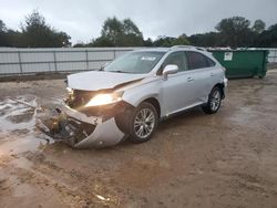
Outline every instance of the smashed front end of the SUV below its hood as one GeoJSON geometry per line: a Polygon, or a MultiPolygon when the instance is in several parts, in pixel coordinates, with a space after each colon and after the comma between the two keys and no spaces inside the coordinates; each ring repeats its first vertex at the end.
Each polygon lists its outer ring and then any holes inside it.
{"type": "Polygon", "coordinates": [[[110,91],[70,90],[63,106],[55,108],[54,116],[41,119],[39,128],[54,141],[65,142],[76,148],[120,143],[125,134],[121,131],[116,116],[123,115],[132,106],[123,100],[107,104],[106,101],[101,103],[101,97],[93,101],[93,97],[107,93],[110,91]]]}

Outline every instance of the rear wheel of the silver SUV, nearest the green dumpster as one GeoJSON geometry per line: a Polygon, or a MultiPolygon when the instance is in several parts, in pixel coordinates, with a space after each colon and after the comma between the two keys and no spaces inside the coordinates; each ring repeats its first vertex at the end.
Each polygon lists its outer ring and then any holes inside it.
{"type": "Polygon", "coordinates": [[[209,95],[208,95],[208,102],[206,105],[202,106],[202,110],[206,114],[214,114],[216,113],[222,105],[222,90],[218,86],[215,86],[209,95]]]}

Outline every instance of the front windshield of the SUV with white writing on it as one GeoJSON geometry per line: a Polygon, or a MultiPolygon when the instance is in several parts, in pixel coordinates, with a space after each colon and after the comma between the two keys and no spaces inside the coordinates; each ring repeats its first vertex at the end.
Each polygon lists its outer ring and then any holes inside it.
{"type": "Polygon", "coordinates": [[[164,52],[153,51],[131,52],[113,61],[104,69],[104,71],[145,74],[153,70],[164,54],[164,52]]]}

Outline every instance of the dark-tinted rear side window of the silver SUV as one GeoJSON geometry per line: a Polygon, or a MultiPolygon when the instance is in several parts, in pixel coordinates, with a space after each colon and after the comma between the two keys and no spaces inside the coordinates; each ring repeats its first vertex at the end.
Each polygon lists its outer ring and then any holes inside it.
{"type": "Polygon", "coordinates": [[[215,65],[215,62],[213,60],[211,60],[206,55],[203,55],[202,53],[187,51],[186,55],[187,55],[189,70],[211,67],[215,65]]]}

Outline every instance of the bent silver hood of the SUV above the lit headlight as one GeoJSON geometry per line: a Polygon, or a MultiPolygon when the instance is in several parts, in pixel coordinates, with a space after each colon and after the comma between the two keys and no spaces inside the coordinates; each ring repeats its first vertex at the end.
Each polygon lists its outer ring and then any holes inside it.
{"type": "Polygon", "coordinates": [[[81,72],[68,75],[68,86],[81,91],[107,90],[145,76],[145,74],[126,74],[103,71],[81,72]]]}

